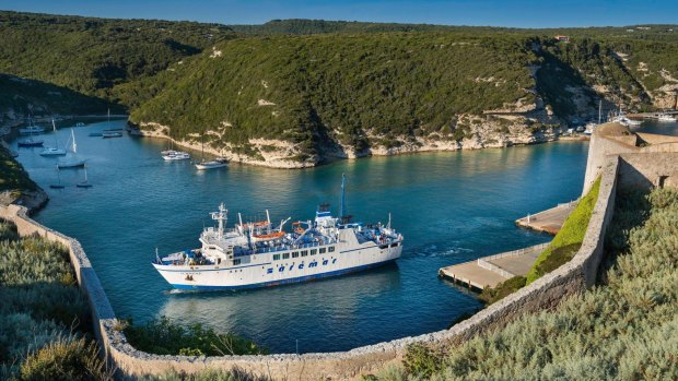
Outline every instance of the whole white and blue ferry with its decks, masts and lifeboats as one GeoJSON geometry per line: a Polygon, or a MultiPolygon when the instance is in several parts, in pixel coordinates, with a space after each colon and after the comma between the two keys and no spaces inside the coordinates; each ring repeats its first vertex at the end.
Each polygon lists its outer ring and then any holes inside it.
{"type": "MultiPolygon", "coordinates": [[[[341,209],[343,191],[341,182],[341,209]]],[[[225,290],[278,286],[364,271],[394,262],[402,252],[402,235],[387,225],[351,223],[332,217],[328,204],[318,206],[314,221],[299,221],[291,231],[290,218],[273,226],[267,219],[243,223],[226,229],[227,213],[222,203],[211,213],[215,227],[200,235],[201,248],[161,258],[153,266],[174,288],[225,290]]]]}

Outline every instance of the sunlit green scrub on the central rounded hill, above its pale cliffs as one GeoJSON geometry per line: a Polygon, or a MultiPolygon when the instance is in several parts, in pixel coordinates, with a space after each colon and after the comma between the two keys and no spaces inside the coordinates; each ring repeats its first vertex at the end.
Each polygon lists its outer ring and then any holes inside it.
{"type": "Polygon", "coordinates": [[[131,114],[184,138],[200,129],[225,142],[336,138],[364,147],[457,128],[455,116],[527,98],[525,40],[446,34],[273,36],[229,40],[183,66],[178,80],[131,114]],[[500,82],[493,78],[501,79],[500,82]],[[199,105],[199,106],[198,106],[199,105]],[[222,122],[232,124],[223,127],[222,122]]]}

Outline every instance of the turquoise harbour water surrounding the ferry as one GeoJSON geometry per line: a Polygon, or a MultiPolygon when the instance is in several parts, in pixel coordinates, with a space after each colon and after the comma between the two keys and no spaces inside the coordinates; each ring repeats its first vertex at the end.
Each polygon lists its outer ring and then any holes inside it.
{"type": "MultiPolygon", "coordinates": [[[[344,160],[314,169],[279,170],[238,164],[198,172],[189,162],[165,163],[163,142],[89,138],[106,123],[77,128],[91,189],[74,188],[82,170],[61,170],[40,148],[16,148],[32,178],[47,190],[36,219],[77,237],[119,317],[141,322],[165,314],[250,337],[271,352],[344,350],[442,330],[481,305],[437,278],[441,266],[547,241],[515,227],[527,213],[576,199],[585,142],[506,150],[431,153],[344,160]],[[178,294],[150,264],[161,253],[198,246],[208,213],[225,202],[231,216],[312,218],[316,204],[335,211],[341,174],[358,221],[386,222],[405,235],[397,264],[361,274],[248,291],[178,294]]],[[[112,127],[124,121],[113,121],[112,127]]],[[[70,130],[58,132],[66,142],[70,130]]],[[[51,143],[52,135],[43,136],[51,143]]],[[[231,221],[230,223],[233,223],[231,221]]]]}

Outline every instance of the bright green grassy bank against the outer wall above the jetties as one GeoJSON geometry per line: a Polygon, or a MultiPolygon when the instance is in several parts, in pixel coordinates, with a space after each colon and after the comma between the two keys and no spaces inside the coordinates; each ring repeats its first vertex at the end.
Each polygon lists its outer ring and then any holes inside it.
{"type": "Polygon", "coordinates": [[[576,254],[584,241],[588,221],[596,201],[598,201],[599,190],[600,178],[596,180],[588,193],[580,200],[576,209],[570,214],[551,243],[539,254],[526,275],[526,285],[560,267],[576,254]]]}

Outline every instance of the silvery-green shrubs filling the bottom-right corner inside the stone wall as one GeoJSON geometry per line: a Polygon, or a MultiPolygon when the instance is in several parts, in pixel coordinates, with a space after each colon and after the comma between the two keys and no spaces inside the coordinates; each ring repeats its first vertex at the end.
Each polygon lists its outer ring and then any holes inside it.
{"type": "Polygon", "coordinates": [[[620,192],[605,250],[594,288],[375,378],[678,379],[678,191],[620,192]]]}

